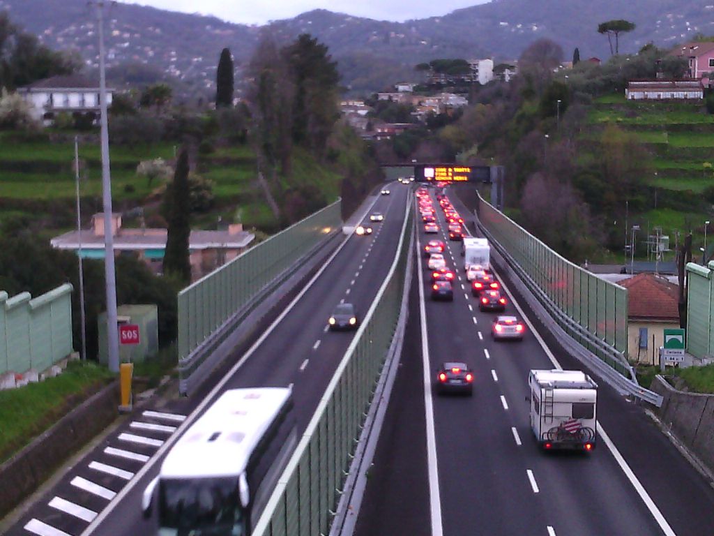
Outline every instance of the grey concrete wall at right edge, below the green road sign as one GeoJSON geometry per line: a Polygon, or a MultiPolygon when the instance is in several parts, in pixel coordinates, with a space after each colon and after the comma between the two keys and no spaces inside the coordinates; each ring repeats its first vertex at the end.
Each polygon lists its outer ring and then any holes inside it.
{"type": "Polygon", "coordinates": [[[711,471],[714,471],[714,394],[678,391],[656,376],[650,387],[663,397],[663,424],[711,471]]]}

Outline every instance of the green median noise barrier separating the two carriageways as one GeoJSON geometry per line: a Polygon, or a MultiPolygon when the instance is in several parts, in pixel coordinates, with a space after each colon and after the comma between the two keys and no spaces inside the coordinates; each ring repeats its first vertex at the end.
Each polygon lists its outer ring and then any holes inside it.
{"type": "Polygon", "coordinates": [[[328,534],[396,331],[412,236],[412,203],[408,202],[391,269],[303,432],[254,535],[328,534]]]}

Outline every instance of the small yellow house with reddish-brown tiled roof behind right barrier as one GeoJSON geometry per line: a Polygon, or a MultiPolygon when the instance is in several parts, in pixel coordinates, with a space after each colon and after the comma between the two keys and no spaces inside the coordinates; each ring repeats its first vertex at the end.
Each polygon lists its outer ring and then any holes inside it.
{"type": "Polygon", "coordinates": [[[628,289],[628,348],[632,359],[658,364],[664,330],[679,327],[679,287],[655,274],[618,282],[628,289]]]}

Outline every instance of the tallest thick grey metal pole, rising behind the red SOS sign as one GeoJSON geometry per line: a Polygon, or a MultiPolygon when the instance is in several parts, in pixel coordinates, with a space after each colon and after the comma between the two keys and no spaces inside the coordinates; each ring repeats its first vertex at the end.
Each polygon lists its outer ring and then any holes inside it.
{"type": "Polygon", "coordinates": [[[104,276],[106,279],[106,342],[109,370],[119,372],[119,334],[116,327],[116,275],[114,232],[111,226],[111,175],[109,174],[109,128],[107,124],[106,75],[104,73],[104,1],[96,2],[99,22],[99,107],[101,109],[101,188],[104,202],[104,276]]]}

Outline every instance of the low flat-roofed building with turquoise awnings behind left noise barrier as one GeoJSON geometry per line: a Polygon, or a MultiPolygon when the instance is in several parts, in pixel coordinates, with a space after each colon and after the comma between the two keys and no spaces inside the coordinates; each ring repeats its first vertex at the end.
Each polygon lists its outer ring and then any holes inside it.
{"type": "MultiPolygon", "coordinates": [[[[131,254],[144,260],[154,272],[162,272],[166,252],[166,229],[127,229],[121,226],[121,214],[112,214],[111,232],[114,254],[131,254]]],[[[203,277],[237,257],[253,242],[255,235],[243,231],[243,224],[230,224],[223,231],[191,231],[191,280],[203,277]]],[[[94,214],[91,229],[70,231],[51,239],[55,249],[68,249],[83,258],[104,259],[104,214],[94,214]],[[80,247],[81,244],[81,247],[80,247]]]]}

